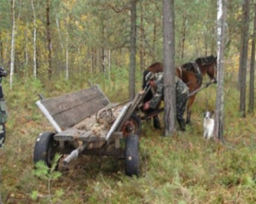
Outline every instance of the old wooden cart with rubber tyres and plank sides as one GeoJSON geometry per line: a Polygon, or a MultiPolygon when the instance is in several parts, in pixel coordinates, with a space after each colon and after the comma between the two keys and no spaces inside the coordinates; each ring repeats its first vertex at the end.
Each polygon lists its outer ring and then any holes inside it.
{"type": "Polygon", "coordinates": [[[99,86],[38,100],[55,133],[39,134],[33,161],[45,161],[51,167],[55,153],[67,155],[63,166],[80,154],[116,156],[125,159],[126,175],[138,176],[141,118],[136,111],[146,89],[122,104],[111,104],[99,86]]]}

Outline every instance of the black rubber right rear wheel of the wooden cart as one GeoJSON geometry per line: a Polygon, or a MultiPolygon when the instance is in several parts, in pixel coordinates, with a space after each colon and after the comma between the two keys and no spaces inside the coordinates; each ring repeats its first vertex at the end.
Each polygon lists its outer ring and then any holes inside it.
{"type": "Polygon", "coordinates": [[[127,176],[139,174],[139,137],[130,134],[125,144],[125,174],[127,176]]]}

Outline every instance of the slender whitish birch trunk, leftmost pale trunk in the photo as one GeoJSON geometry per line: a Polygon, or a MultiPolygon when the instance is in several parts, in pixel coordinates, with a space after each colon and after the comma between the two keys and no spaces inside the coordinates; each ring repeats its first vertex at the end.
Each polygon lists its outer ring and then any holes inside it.
{"type": "Polygon", "coordinates": [[[13,88],[13,77],[15,73],[15,0],[12,1],[12,38],[11,38],[11,63],[10,63],[10,74],[9,84],[10,88],[13,88]]]}

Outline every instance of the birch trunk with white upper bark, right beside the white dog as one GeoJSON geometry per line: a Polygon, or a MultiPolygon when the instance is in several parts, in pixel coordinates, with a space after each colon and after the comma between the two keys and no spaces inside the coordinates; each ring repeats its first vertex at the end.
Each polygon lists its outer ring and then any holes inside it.
{"type": "Polygon", "coordinates": [[[223,140],[224,128],[224,39],[227,14],[227,0],[217,2],[217,48],[218,48],[218,84],[215,107],[214,139],[223,140]]]}

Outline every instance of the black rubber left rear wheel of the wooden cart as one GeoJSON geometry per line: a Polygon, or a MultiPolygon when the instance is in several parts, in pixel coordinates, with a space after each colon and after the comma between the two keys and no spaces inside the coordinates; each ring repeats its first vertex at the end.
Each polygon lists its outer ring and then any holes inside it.
{"type": "MultiPolygon", "coordinates": [[[[55,133],[40,133],[34,149],[34,163],[44,161],[48,167],[51,167],[59,143],[55,141],[55,133]]],[[[57,166],[58,167],[58,166],[57,166]]],[[[57,168],[56,167],[56,168],[57,168]]]]}

